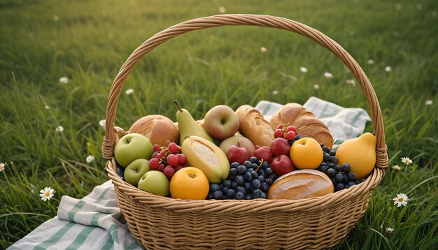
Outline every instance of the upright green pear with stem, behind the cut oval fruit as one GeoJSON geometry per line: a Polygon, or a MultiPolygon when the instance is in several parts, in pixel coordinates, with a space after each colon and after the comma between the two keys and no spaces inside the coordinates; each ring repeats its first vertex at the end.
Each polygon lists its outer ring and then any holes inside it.
{"type": "MultiPolygon", "coordinates": [[[[178,111],[176,112],[176,122],[178,122],[179,134],[180,134],[180,144],[183,145],[185,138],[189,136],[196,135],[200,138],[204,138],[213,142],[213,138],[205,131],[202,126],[199,126],[195,119],[188,110],[180,107],[178,101],[175,100],[175,104],[178,106],[178,111]]],[[[214,143],[214,142],[213,142],[214,143]]]]}

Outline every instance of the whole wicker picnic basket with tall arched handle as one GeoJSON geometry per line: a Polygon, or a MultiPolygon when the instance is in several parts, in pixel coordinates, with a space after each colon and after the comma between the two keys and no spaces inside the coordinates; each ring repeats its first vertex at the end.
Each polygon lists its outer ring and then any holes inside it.
{"type": "Polygon", "coordinates": [[[146,249],[322,249],[334,247],[365,214],[372,189],[388,167],[379,101],[362,68],[339,44],[316,29],[269,15],[215,15],[176,24],[140,45],[111,87],[103,143],[106,171],[134,238],[146,249]],[[155,47],[189,31],[255,25],[301,34],[333,52],[350,69],[367,98],[377,138],[376,166],[365,182],[323,197],[301,200],[177,200],[155,196],[124,182],[113,157],[118,98],[129,72],[155,47]]]}

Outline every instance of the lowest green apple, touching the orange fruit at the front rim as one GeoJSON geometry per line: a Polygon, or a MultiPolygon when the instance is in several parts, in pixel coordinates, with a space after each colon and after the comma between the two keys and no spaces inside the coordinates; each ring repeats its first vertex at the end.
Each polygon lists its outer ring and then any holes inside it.
{"type": "Polygon", "coordinates": [[[150,170],[140,180],[139,189],[157,196],[169,196],[169,179],[157,170],[150,170]]]}

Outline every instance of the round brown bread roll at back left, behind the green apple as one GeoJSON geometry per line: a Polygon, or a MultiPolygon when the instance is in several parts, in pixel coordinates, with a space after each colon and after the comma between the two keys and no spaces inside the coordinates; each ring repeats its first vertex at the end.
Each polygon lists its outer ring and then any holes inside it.
{"type": "Polygon", "coordinates": [[[129,128],[129,133],[144,135],[153,145],[157,144],[162,147],[169,145],[170,142],[177,144],[179,142],[178,126],[162,115],[141,117],[129,128]]]}

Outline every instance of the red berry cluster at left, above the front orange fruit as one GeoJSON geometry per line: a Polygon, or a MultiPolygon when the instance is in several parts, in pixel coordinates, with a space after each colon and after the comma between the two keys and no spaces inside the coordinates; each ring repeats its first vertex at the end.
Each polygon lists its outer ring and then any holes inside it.
{"type": "Polygon", "coordinates": [[[150,169],[163,172],[167,179],[171,179],[176,171],[188,166],[187,158],[180,152],[181,147],[175,142],[169,143],[167,147],[154,145],[154,152],[149,161],[150,169]]]}

